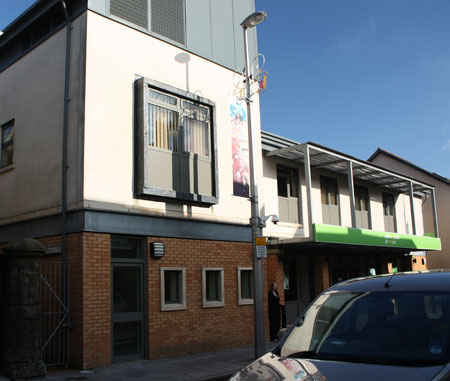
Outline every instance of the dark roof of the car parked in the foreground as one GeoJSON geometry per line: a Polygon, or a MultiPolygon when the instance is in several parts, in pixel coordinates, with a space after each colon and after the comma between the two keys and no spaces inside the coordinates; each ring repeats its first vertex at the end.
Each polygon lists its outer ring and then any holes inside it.
{"type": "Polygon", "coordinates": [[[332,291],[435,291],[450,292],[450,271],[430,270],[383,274],[349,279],[330,287],[332,291]]]}

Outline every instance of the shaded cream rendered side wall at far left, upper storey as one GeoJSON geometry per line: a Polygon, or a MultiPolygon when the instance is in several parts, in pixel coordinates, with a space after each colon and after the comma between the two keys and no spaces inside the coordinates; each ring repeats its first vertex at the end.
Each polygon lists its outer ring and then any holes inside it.
{"type": "MultiPolygon", "coordinates": [[[[81,197],[78,144],[85,16],[72,24],[68,198],[81,197]]],[[[0,170],[0,225],[60,211],[66,29],[0,73],[0,124],[14,123],[14,165],[0,170]]]]}

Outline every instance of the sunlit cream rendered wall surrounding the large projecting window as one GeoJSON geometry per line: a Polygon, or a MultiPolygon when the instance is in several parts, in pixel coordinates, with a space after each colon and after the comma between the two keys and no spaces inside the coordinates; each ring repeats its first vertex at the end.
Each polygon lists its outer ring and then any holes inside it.
{"type": "MultiPolygon", "coordinates": [[[[250,203],[235,197],[232,181],[230,96],[233,72],[183,50],[88,12],[84,200],[86,207],[204,218],[248,224],[250,203]],[[219,203],[210,208],[133,198],[133,84],[143,76],[188,90],[216,103],[219,203]]],[[[252,98],[255,152],[261,152],[259,101],[252,98]]],[[[261,155],[256,159],[262,178],[261,155]]],[[[261,183],[258,181],[258,183],[261,183]]],[[[260,189],[262,195],[262,189],[260,189]]]]}

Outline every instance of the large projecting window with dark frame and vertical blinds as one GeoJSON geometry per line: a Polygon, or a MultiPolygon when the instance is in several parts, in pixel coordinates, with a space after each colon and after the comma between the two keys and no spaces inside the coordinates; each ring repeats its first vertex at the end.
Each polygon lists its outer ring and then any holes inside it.
{"type": "Polygon", "coordinates": [[[215,103],[145,78],[135,90],[136,197],[216,204],[215,103]]]}

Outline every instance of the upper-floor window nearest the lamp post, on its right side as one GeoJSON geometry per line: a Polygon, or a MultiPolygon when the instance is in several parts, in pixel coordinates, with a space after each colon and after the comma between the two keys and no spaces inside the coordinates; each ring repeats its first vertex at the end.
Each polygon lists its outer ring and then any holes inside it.
{"type": "Polygon", "coordinates": [[[278,216],[281,221],[300,222],[298,170],[277,165],[278,216]]]}

